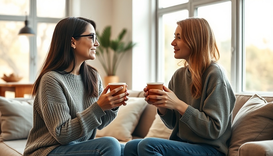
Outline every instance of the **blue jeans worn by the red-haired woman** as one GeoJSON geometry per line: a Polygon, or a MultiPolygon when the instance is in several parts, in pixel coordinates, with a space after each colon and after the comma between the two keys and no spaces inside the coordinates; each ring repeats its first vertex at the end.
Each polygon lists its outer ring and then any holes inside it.
{"type": "Polygon", "coordinates": [[[125,144],[124,156],[225,156],[207,144],[189,144],[161,138],[134,139],[125,144]]]}

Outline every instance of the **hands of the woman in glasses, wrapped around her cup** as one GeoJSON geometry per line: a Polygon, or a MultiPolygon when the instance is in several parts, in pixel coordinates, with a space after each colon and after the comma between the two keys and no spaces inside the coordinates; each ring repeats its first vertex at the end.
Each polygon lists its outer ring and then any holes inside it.
{"type": "Polygon", "coordinates": [[[109,93],[107,93],[109,89],[109,85],[106,86],[106,88],[103,90],[101,96],[99,97],[97,103],[101,107],[103,111],[113,109],[115,107],[119,107],[124,103],[124,96],[127,94],[127,92],[124,92],[122,94],[112,96],[116,92],[122,89],[122,87],[118,87],[109,93]]]}

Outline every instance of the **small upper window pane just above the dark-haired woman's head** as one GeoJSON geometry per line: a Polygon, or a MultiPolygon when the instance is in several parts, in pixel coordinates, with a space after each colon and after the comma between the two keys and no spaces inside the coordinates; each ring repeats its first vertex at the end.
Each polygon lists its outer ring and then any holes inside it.
{"type": "Polygon", "coordinates": [[[65,17],[66,0],[37,0],[37,17],[65,17]]]}

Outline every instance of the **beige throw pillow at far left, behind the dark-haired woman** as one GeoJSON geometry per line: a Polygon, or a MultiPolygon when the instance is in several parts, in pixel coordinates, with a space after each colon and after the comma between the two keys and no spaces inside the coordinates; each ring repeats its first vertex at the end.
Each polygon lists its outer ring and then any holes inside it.
{"type": "Polygon", "coordinates": [[[33,106],[30,100],[0,97],[0,141],[26,139],[33,126],[33,106]]]}

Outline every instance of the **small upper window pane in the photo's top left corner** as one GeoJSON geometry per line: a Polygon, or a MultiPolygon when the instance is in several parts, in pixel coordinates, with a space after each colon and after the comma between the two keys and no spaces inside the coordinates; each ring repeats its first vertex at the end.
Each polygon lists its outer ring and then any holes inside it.
{"type": "Polygon", "coordinates": [[[26,16],[29,0],[0,0],[0,15],[26,16]]]}

